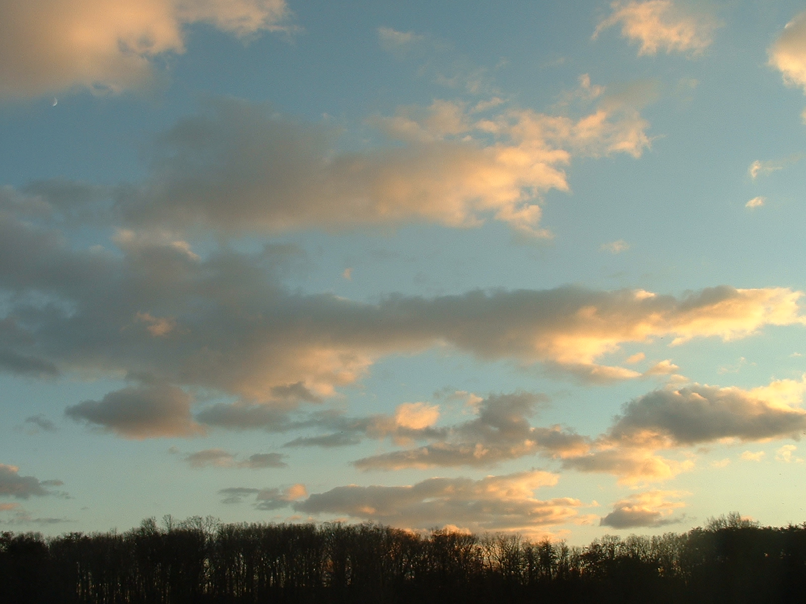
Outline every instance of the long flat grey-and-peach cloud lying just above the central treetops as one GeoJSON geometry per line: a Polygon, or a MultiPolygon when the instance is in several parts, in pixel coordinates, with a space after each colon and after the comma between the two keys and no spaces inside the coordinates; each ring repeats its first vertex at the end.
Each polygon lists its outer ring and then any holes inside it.
{"type": "Polygon", "coordinates": [[[503,476],[429,478],[412,486],[338,486],[293,504],[296,511],[346,515],[396,527],[452,524],[472,531],[534,532],[574,518],[577,499],[534,499],[556,474],[532,470],[503,476]]]}

